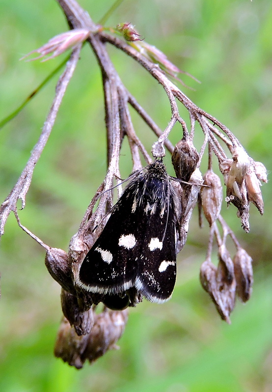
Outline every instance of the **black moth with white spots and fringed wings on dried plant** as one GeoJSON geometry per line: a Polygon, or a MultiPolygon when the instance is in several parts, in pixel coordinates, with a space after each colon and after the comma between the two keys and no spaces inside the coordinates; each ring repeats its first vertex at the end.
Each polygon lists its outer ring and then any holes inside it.
{"type": "Polygon", "coordinates": [[[177,196],[161,159],[136,174],[82,262],[76,284],[110,308],[165,302],[176,281],[177,196]]]}

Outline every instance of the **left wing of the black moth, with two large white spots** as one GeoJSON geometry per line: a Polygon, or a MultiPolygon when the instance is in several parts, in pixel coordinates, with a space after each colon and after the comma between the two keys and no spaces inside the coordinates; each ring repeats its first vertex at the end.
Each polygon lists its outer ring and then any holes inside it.
{"type": "Polygon", "coordinates": [[[133,197],[124,192],[83,260],[76,282],[85,290],[119,294],[134,286],[138,216],[132,204],[133,197]]]}

